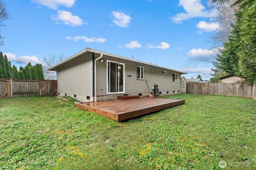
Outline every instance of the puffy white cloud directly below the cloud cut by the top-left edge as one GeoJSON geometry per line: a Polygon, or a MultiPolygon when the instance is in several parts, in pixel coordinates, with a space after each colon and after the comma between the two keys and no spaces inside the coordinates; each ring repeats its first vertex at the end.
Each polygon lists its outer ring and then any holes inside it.
{"type": "Polygon", "coordinates": [[[78,16],[74,16],[71,14],[71,12],[67,11],[58,11],[58,15],[52,15],[52,20],[56,21],[56,24],[59,23],[59,21],[62,21],[65,25],[70,26],[77,26],[77,25],[83,25],[83,20],[80,19],[78,16]]]}

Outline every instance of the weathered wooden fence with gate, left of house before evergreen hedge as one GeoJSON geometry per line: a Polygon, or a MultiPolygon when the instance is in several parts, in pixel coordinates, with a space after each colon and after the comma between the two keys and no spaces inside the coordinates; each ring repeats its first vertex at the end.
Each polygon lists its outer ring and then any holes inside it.
{"type": "Polygon", "coordinates": [[[0,79],[0,98],[57,96],[57,80],[0,79]]]}

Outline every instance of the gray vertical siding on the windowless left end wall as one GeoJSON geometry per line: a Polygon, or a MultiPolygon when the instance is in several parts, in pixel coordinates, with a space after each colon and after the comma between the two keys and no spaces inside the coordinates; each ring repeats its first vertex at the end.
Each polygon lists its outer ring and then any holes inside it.
{"type": "Polygon", "coordinates": [[[57,79],[58,93],[92,96],[92,53],[57,68],[57,79]]]}

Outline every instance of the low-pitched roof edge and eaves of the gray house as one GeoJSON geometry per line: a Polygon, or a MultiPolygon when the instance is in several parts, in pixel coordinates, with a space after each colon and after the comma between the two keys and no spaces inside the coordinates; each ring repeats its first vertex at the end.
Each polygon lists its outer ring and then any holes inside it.
{"type": "Polygon", "coordinates": [[[86,48],[86,49],[76,53],[75,55],[72,55],[68,59],[65,59],[64,61],[56,64],[55,66],[52,66],[51,68],[48,68],[47,70],[56,71],[56,69],[58,67],[60,67],[62,64],[68,63],[69,61],[74,60],[76,57],[79,57],[80,55],[82,55],[84,53],[88,53],[88,52],[103,54],[103,55],[107,55],[107,56],[110,56],[110,57],[115,57],[115,58],[118,58],[118,59],[124,59],[124,60],[128,60],[128,61],[133,61],[133,62],[136,62],[136,63],[147,64],[147,65],[151,65],[151,66],[160,67],[160,68],[163,68],[163,69],[173,70],[173,71],[176,71],[176,72],[180,72],[181,74],[188,74],[187,72],[182,72],[182,71],[178,71],[178,70],[174,70],[174,69],[171,69],[171,68],[166,68],[166,67],[162,67],[162,66],[158,66],[158,65],[154,65],[154,64],[144,63],[144,62],[137,61],[137,60],[134,60],[134,59],[121,57],[119,55],[114,55],[114,54],[110,54],[110,53],[106,53],[106,52],[103,52],[103,51],[98,51],[98,50],[94,50],[94,49],[90,49],[90,48],[86,48]]]}

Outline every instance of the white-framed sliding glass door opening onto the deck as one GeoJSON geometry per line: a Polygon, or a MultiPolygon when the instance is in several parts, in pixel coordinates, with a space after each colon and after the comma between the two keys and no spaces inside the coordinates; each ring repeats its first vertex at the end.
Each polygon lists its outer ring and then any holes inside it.
{"type": "Polygon", "coordinates": [[[107,93],[124,93],[124,63],[107,61],[107,93]]]}

